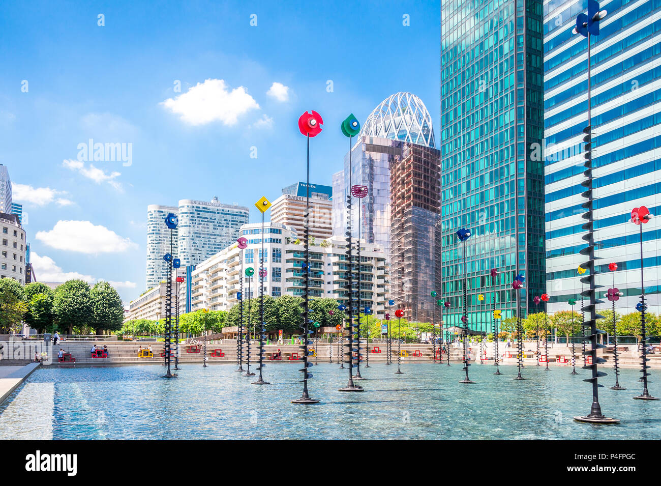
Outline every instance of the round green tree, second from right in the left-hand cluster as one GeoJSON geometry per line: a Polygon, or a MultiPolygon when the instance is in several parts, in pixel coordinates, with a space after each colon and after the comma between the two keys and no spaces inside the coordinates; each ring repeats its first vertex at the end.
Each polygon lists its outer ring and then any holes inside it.
{"type": "Polygon", "coordinates": [[[55,291],[55,323],[59,330],[85,333],[94,322],[94,307],[89,284],[84,280],[67,280],[55,291]]]}

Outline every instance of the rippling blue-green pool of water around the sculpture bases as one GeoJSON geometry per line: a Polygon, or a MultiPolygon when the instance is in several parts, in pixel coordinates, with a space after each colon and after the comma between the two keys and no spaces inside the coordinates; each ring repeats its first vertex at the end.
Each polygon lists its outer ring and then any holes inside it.
{"type": "MultiPolygon", "coordinates": [[[[638,370],[620,384],[602,379],[604,415],[621,424],[575,423],[590,410],[587,370],[527,366],[470,368],[474,385],[459,384],[461,364],[377,363],[362,369],[363,393],[342,393],[348,370],[337,364],[311,369],[317,405],[293,405],[301,395],[297,364],[264,369],[270,385],[235,372],[235,364],[186,364],[178,378],[160,378],[161,366],[41,368],[0,406],[0,439],[660,439],[661,402],[634,400],[642,391],[638,370]]],[[[658,370],[652,370],[657,374],[658,370]]],[[[652,376],[654,378],[654,376],[652,376]]],[[[659,396],[652,382],[649,391],[659,396]]]]}

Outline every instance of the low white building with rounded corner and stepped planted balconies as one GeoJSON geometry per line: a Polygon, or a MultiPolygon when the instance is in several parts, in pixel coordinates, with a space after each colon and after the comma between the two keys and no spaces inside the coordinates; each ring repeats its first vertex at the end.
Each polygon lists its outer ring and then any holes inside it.
{"type": "MultiPolygon", "coordinates": [[[[229,310],[238,302],[241,279],[244,298],[259,296],[262,223],[245,224],[240,232],[248,241],[243,253],[236,244],[231,245],[198,264],[192,273],[193,310],[229,310]],[[245,276],[248,267],[254,269],[253,278],[245,276]]],[[[302,296],[304,281],[301,266],[305,254],[295,229],[281,223],[266,223],[264,236],[264,294],[272,297],[302,296]]],[[[368,306],[373,315],[383,316],[385,303],[389,300],[387,258],[379,245],[365,242],[361,245],[361,307],[368,306]]],[[[311,238],[311,297],[345,302],[345,248],[343,239],[311,238]]]]}

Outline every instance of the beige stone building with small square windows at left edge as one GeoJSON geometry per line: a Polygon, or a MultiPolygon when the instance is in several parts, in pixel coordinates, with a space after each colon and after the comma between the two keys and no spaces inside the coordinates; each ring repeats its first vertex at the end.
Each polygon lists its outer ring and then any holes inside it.
{"type": "Polygon", "coordinates": [[[0,212],[0,278],[25,284],[26,234],[15,214],[0,212]]]}

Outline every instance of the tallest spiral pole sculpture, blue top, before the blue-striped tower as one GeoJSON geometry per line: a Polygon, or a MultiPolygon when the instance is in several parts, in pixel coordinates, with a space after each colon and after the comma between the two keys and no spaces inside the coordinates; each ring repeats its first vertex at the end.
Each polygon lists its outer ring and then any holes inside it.
{"type": "Polygon", "coordinates": [[[586,331],[590,332],[589,335],[586,335],[585,339],[590,342],[589,354],[591,360],[590,364],[586,364],[584,368],[592,370],[592,376],[583,380],[584,382],[592,383],[592,406],[590,407],[590,413],[588,415],[574,417],[574,420],[578,422],[598,424],[612,424],[619,422],[617,419],[611,419],[610,417],[602,415],[602,407],[599,403],[600,385],[598,384],[598,379],[600,376],[606,376],[606,374],[597,370],[598,364],[605,362],[603,358],[597,357],[597,350],[605,346],[597,343],[597,337],[600,334],[603,334],[603,331],[597,329],[597,319],[603,319],[603,316],[597,313],[597,305],[603,304],[603,301],[598,300],[596,294],[596,289],[600,286],[596,284],[595,277],[597,272],[594,264],[596,258],[594,255],[594,195],[592,194],[594,178],[592,177],[592,57],[590,45],[592,44],[591,36],[599,35],[599,22],[605,17],[606,11],[600,11],[599,3],[595,0],[588,0],[588,15],[585,15],[584,13],[578,14],[576,17],[576,26],[572,30],[574,34],[581,34],[588,38],[588,126],[583,129],[583,133],[585,134],[583,141],[586,143],[584,153],[586,160],[583,167],[585,167],[586,170],[583,171],[585,180],[581,182],[581,185],[586,188],[586,190],[581,193],[581,196],[586,199],[586,201],[581,204],[581,207],[586,210],[581,216],[581,218],[586,220],[586,223],[583,223],[581,228],[587,231],[582,239],[586,241],[588,245],[578,253],[588,258],[588,261],[582,263],[581,266],[590,272],[580,280],[581,283],[588,284],[588,289],[581,292],[582,296],[589,299],[588,305],[582,310],[590,313],[588,316],[589,319],[584,322],[584,327],[586,328],[586,331]]]}

